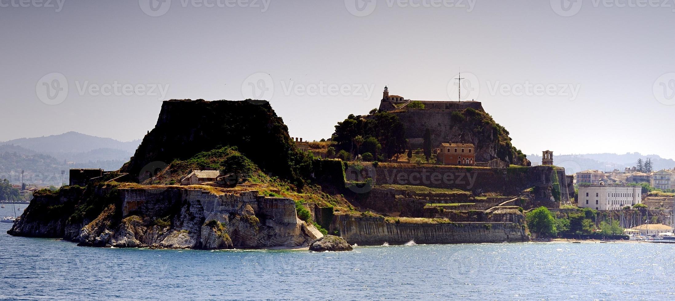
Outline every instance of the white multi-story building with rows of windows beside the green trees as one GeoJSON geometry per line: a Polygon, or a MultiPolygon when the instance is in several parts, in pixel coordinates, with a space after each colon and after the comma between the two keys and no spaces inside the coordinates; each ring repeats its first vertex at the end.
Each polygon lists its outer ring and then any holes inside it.
{"type": "Polygon", "coordinates": [[[641,186],[580,185],[578,207],[619,210],[642,202],[641,186]]]}

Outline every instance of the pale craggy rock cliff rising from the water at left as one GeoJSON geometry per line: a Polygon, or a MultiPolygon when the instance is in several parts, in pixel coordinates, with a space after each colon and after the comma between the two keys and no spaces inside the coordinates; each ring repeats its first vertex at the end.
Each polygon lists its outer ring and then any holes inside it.
{"type": "MultiPolygon", "coordinates": [[[[73,189],[62,194],[73,194],[73,189]]],[[[84,246],[196,249],[300,247],[321,237],[313,225],[298,219],[293,200],[255,191],[216,195],[107,187],[89,193],[38,197],[7,233],[60,237],[84,246]],[[49,207],[59,207],[63,214],[43,216],[49,207]]]]}

